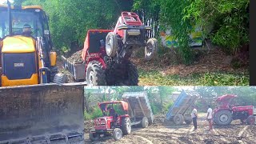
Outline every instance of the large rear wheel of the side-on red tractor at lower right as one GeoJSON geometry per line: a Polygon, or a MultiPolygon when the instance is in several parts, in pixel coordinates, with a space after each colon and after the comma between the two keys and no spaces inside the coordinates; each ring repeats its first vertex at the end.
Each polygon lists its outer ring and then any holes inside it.
{"type": "Polygon", "coordinates": [[[232,122],[232,114],[230,110],[220,110],[215,114],[215,122],[217,125],[226,126],[232,122]]]}

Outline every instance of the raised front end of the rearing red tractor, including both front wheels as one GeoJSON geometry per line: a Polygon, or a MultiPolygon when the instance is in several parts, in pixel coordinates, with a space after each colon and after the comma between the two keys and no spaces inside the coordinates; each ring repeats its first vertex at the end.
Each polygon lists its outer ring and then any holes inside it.
{"type": "Polygon", "coordinates": [[[146,31],[150,26],[144,26],[137,14],[122,12],[113,32],[106,36],[106,54],[116,62],[130,58],[133,50],[145,48],[146,60],[154,58],[158,49],[158,41],[149,38],[146,42],[146,31]]]}

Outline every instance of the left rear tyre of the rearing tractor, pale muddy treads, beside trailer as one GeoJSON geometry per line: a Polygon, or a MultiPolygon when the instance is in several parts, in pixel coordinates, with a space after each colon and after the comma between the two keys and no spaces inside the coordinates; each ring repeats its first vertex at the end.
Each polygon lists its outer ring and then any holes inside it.
{"type": "Polygon", "coordinates": [[[88,86],[106,86],[105,70],[100,62],[89,62],[86,69],[86,82],[88,86]]]}

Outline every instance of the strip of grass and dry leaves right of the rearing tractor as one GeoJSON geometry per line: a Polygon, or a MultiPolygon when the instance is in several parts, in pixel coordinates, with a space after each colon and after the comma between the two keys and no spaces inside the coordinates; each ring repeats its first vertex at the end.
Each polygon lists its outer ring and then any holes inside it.
{"type": "Polygon", "coordinates": [[[157,70],[139,72],[142,86],[249,86],[249,74],[211,72],[180,77],[177,74],[162,75],[157,70]]]}

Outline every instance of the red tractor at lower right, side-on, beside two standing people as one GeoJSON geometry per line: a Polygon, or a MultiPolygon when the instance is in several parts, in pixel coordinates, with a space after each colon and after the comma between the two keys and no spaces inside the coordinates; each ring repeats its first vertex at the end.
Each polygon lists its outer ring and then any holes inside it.
{"type": "Polygon", "coordinates": [[[235,98],[237,98],[236,95],[226,94],[216,99],[218,106],[214,109],[214,123],[225,126],[237,119],[249,125],[255,123],[256,110],[254,106],[238,106],[235,98]]]}

